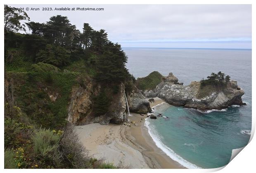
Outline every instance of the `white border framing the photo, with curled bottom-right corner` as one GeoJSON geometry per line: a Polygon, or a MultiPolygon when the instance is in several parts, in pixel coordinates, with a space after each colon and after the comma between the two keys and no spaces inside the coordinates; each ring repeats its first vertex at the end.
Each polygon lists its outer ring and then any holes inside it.
{"type": "MultiPolygon", "coordinates": [[[[70,1],[70,0],[62,0],[62,1],[57,1],[57,0],[44,0],[44,1],[34,1],[34,0],[3,0],[3,4],[2,4],[2,14],[3,14],[3,5],[4,4],[252,4],[252,47],[255,45],[255,5],[256,5],[256,1],[255,0],[157,0],[157,1],[139,1],[139,0],[93,0],[93,1],[85,1],[85,0],[76,0],[76,1],[70,1]]],[[[3,21],[3,15],[2,15],[2,21],[3,21]]],[[[1,123],[2,123],[2,128],[1,128],[1,139],[2,139],[2,143],[1,143],[1,157],[0,157],[0,163],[1,163],[1,169],[3,170],[4,168],[4,143],[3,143],[3,138],[4,138],[4,127],[3,127],[3,115],[4,115],[4,63],[3,63],[3,54],[4,54],[4,30],[3,27],[1,28],[1,32],[2,32],[2,39],[1,39],[1,52],[2,52],[2,63],[1,63],[1,81],[2,81],[2,85],[1,87],[1,115],[2,115],[2,119],[1,119],[1,123]]],[[[255,53],[254,53],[254,49],[252,50],[252,76],[254,76],[255,74],[255,70],[254,70],[254,66],[255,66],[255,53]]],[[[252,77],[252,86],[255,86],[255,80],[254,77],[252,77]]],[[[255,94],[254,94],[254,90],[252,90],[252,103],[254,103],[255,101],[255,94]]],[[[255,115],[254,115],[254,106],[252,106],[252,130],[251,130],[251,142],[249,143],[249,145],[247,145],[244,150],[242,150],[239,155],[237,157],[235,157],[224,169],[222,169],[220,172],[221,173],[230,173],[230,172],[254,172],[255,171],[255,156],[254,154],[256,154],[256,150],[255,150],[255,146],[256,146],[256,140],[252,139],[252,136],[254,135],[254,131],[255,131],[255,115]]],[[[194,173],[199,173],[199,172],[212,172],[212,171],[218,171],[220,168],[216,168],[216,169],[203,169],[203,170],[192,170],[192,169],[182,169],[182,170],[170,170],[170,169],[161,169],[159,171],[161,172],[194,172],[194,173]]],[[[45,170],[4,170],[5,172],[45,172],[45,170]]],[[[98,172],[98,171],[104,171],[104,172],[120,172],[121,170],[47,170],[49,172],[56,172],[56,171],[62,171],[62,172],[70,172],[70,171],[76,171],[76,172],[98,172]]],[[[122,172],[130,172],[133,170],[122,170],[122,172]]],[[[140,171],[140,172],[147,172],[147,173],[152,173],[153,171],[155,171],[154,169],[150,169],[150,170],[142,170],[142,169],[138,169],[136,171],[140,171]]]]}

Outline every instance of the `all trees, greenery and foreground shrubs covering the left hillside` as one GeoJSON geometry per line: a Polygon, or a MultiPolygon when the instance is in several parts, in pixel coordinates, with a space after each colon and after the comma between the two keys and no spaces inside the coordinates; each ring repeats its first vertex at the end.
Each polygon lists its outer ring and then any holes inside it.
{"type": "Polygon", "coordinates": [[[66,16],[38,23],[5,5],[4,20],[5,168],[116,168],[90,158],[66,118],[72,87],[86,87],[85,77],[102,88],[95,116],[109,106],[103,89],[134,82],[121,46],[88,23],[77,30],[66,16]],[[17,33],[26,26],[30,34],[17,33]]]}

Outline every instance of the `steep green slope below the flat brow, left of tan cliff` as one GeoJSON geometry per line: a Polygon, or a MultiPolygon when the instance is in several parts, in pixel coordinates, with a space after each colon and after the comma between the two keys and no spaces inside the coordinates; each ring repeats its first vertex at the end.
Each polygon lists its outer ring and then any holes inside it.
{"type": "Polygon", "coordinates": [[[36,124],[58,128],[64,125],[71,89],[76,85],[77,73],[69,72],[7,72],[14,81],[17,105],[36,124]],[[57,94],[51,101],[48,94],[57,94]]]}

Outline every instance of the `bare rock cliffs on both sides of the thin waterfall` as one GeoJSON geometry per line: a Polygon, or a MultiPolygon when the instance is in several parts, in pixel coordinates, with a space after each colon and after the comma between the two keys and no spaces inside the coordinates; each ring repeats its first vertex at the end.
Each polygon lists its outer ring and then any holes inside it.
{"type": "MultiPolygon", "coordinates": [[[[111,103],[104,115],[95,115],[93,108],[93,96],[97,95],[101,86],[92,84],[90,79],[87,79],[82,86],[73,87],[71,94],[71,101],[68,109],[68,121],[76,125],[100,123],[100,124],[121,124],[127,121],[126,117],[126,98],[125,98],[125,86],[123,83],[119,84],[119,90],[116,94],[112,94],[109,91],[109,97],[111,97],[111,103]]],[[[130,112],[147,113],[151,110],[149,102],[146,101],[146,97],[135,87],[128,96],[128,104],[130,112]]]]}

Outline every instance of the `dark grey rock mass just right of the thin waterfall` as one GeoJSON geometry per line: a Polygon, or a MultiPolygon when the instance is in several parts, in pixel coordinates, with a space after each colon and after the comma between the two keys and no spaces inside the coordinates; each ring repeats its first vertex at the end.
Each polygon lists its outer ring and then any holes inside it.
{"type": "Polygon", "coordinates": [[[128,95],[128,104],[130,112],[146,114],[151,110],[149,101],[143,94],[135,87],[135,89],[128,95]]]}

